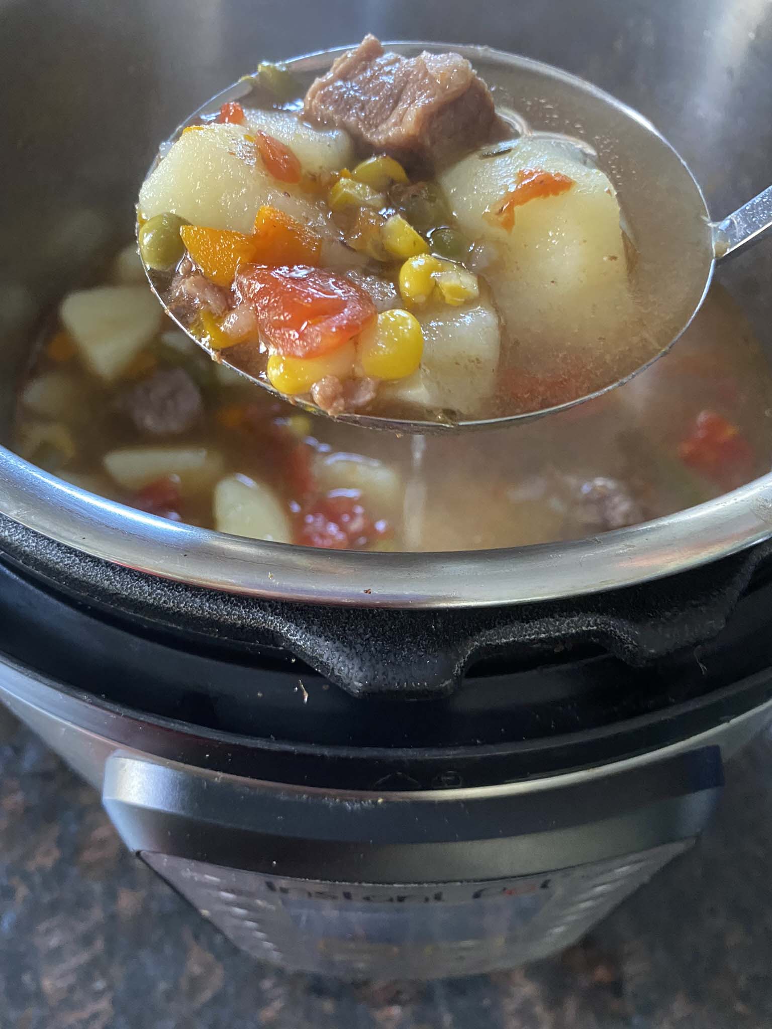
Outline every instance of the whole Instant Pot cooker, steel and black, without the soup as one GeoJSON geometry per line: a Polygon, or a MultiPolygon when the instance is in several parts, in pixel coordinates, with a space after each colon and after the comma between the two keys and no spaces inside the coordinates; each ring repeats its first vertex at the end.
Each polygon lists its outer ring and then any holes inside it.
{"type": "MultiPolygon", "coordinates": [[[[713,210],[768,184],[757,0],[0,14],[6,422],[35,326],[126,239],[157,141],[260,58],[367,31],[495,43],[652,117],[713,210]]],[[[721,273],[768,344],[771,272],[759,248],[721,273]]],[[[4,450],[0,512],[0,698],[142,860],[285,967],[430,978],[567,946],[694,842],[723,760],[772,718],[772,476],[469,554],[229,537],[4,450]]]]}

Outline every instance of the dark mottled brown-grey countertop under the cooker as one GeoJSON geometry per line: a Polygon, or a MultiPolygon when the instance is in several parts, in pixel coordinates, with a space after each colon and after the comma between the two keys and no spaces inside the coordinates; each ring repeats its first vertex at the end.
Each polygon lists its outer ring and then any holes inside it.
{"type": "Polygon", "coordinates": [[[772,736],[727,780],[697,848],[562,956],[348,986],[237,952],[0,714],[0,1029],[769,1029],[772,736]]]}

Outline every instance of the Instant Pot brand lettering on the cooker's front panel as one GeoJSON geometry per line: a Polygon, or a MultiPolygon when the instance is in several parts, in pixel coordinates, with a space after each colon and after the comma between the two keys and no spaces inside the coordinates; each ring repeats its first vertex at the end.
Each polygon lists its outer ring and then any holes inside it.
{"type": "Polygon", "coordinates": [[[550,879],[528,879],[507,883],[453,883],[448,886],[418,887],[409,892],[398,887],[316,888],[300,883],[264,880],[269,893],[293,900],[350,900],[355,903],[423,904],[449,900],[482,900],[493,897],[523,897],[550,888],[550,879]]]}

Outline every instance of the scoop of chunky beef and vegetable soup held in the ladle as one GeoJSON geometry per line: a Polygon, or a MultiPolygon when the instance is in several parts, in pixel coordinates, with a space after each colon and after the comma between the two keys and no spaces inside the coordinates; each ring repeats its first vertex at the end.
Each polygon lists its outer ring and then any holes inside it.
{"type": "Polygon", "coordinates": [[[611,174],[497,108],[464,58],[370,36],[307,90],[260,66],[165,144],[140,250],[179,323],[281,394],[487,420],[601,390],[680,327],[611,174]]]}

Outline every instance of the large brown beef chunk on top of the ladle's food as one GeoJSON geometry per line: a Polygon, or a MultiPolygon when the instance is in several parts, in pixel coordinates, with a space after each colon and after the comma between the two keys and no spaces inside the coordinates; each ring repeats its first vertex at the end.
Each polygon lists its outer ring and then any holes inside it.
{"type": "Polygon", "coordinates": [[[493,98],[458,54],[402,58],[375,36],[338,58],[306,94],[306,117],[413,165],[442,163],[501,135],[493,98]]]}

